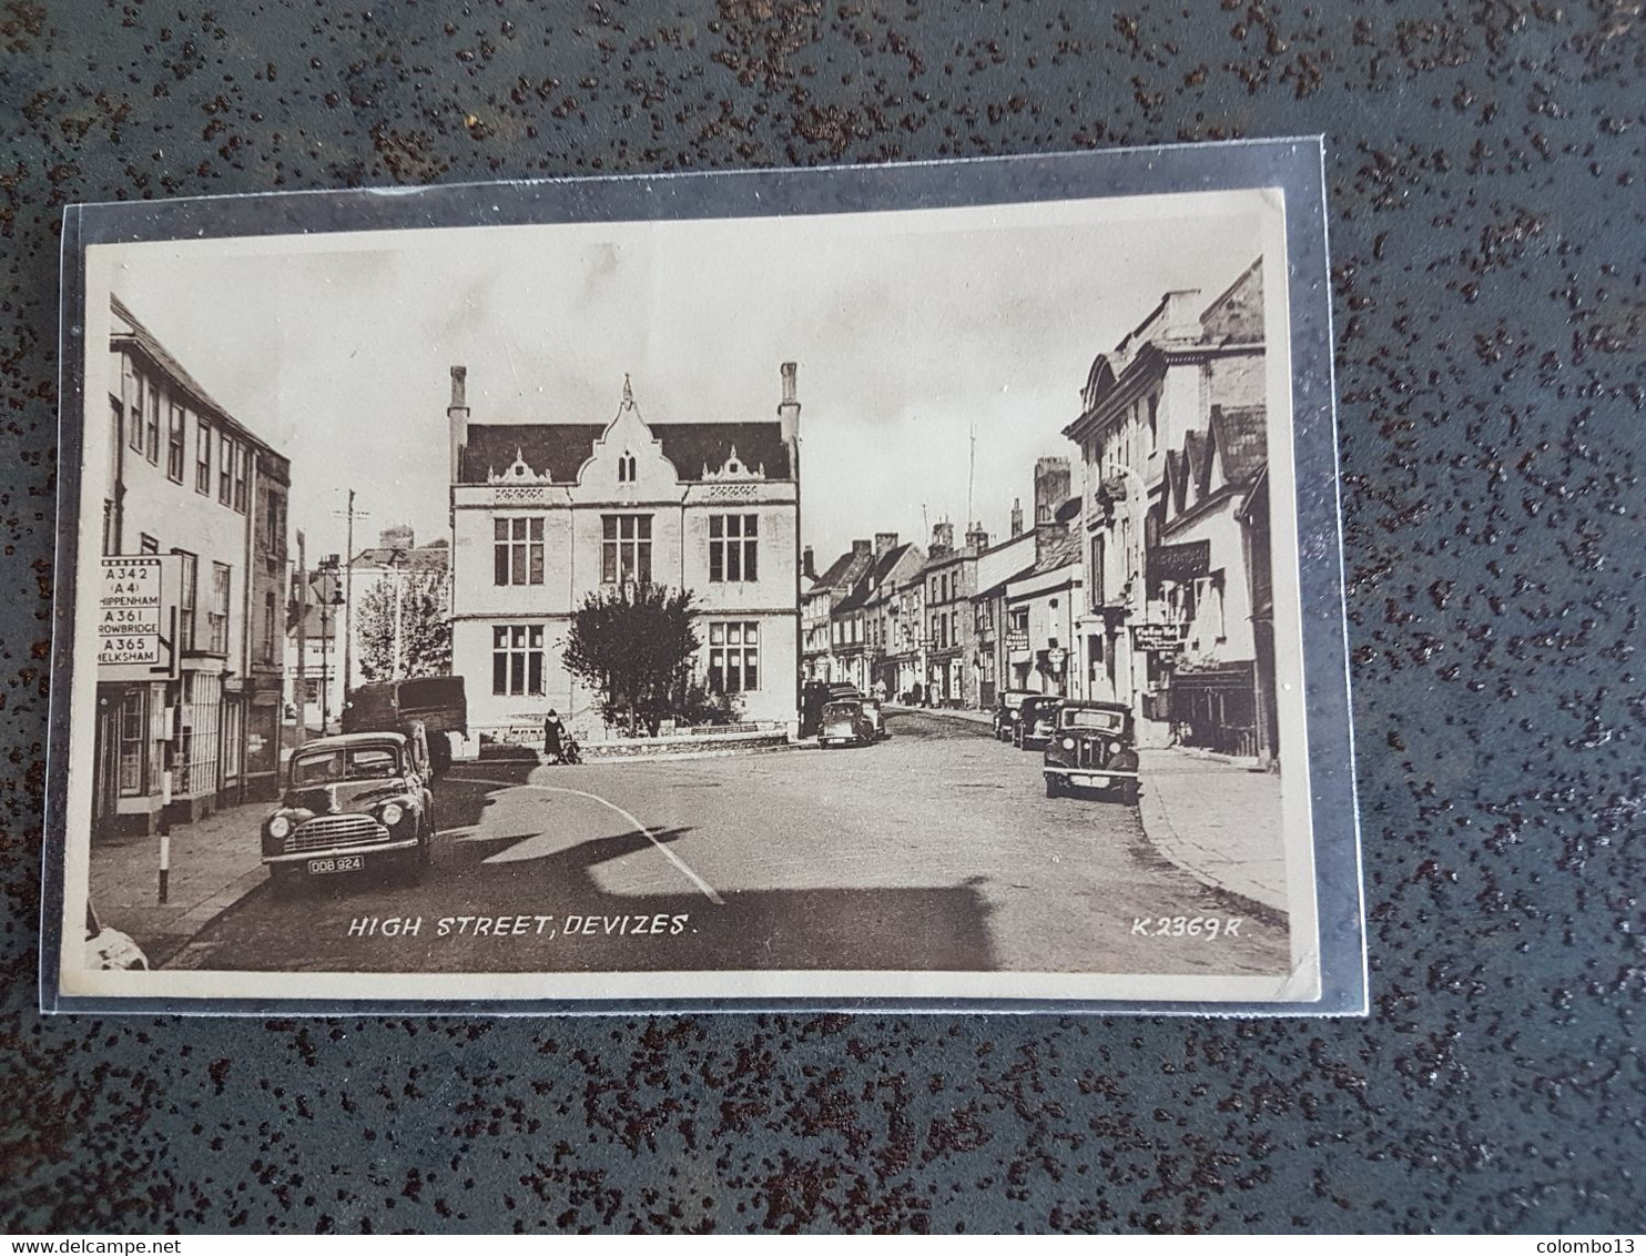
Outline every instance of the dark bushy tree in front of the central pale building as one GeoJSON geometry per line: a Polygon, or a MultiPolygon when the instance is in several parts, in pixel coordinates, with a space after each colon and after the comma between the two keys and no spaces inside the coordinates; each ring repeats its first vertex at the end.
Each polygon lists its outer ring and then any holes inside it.
{"type": "Polygon", "coordinates": [[[690,589],[625,583],[591,593],[571,617],[566,670],[599,690],[609,724],[635,736],[640,721],[653,734],[685,690],[698,634],[690,589]]]}

